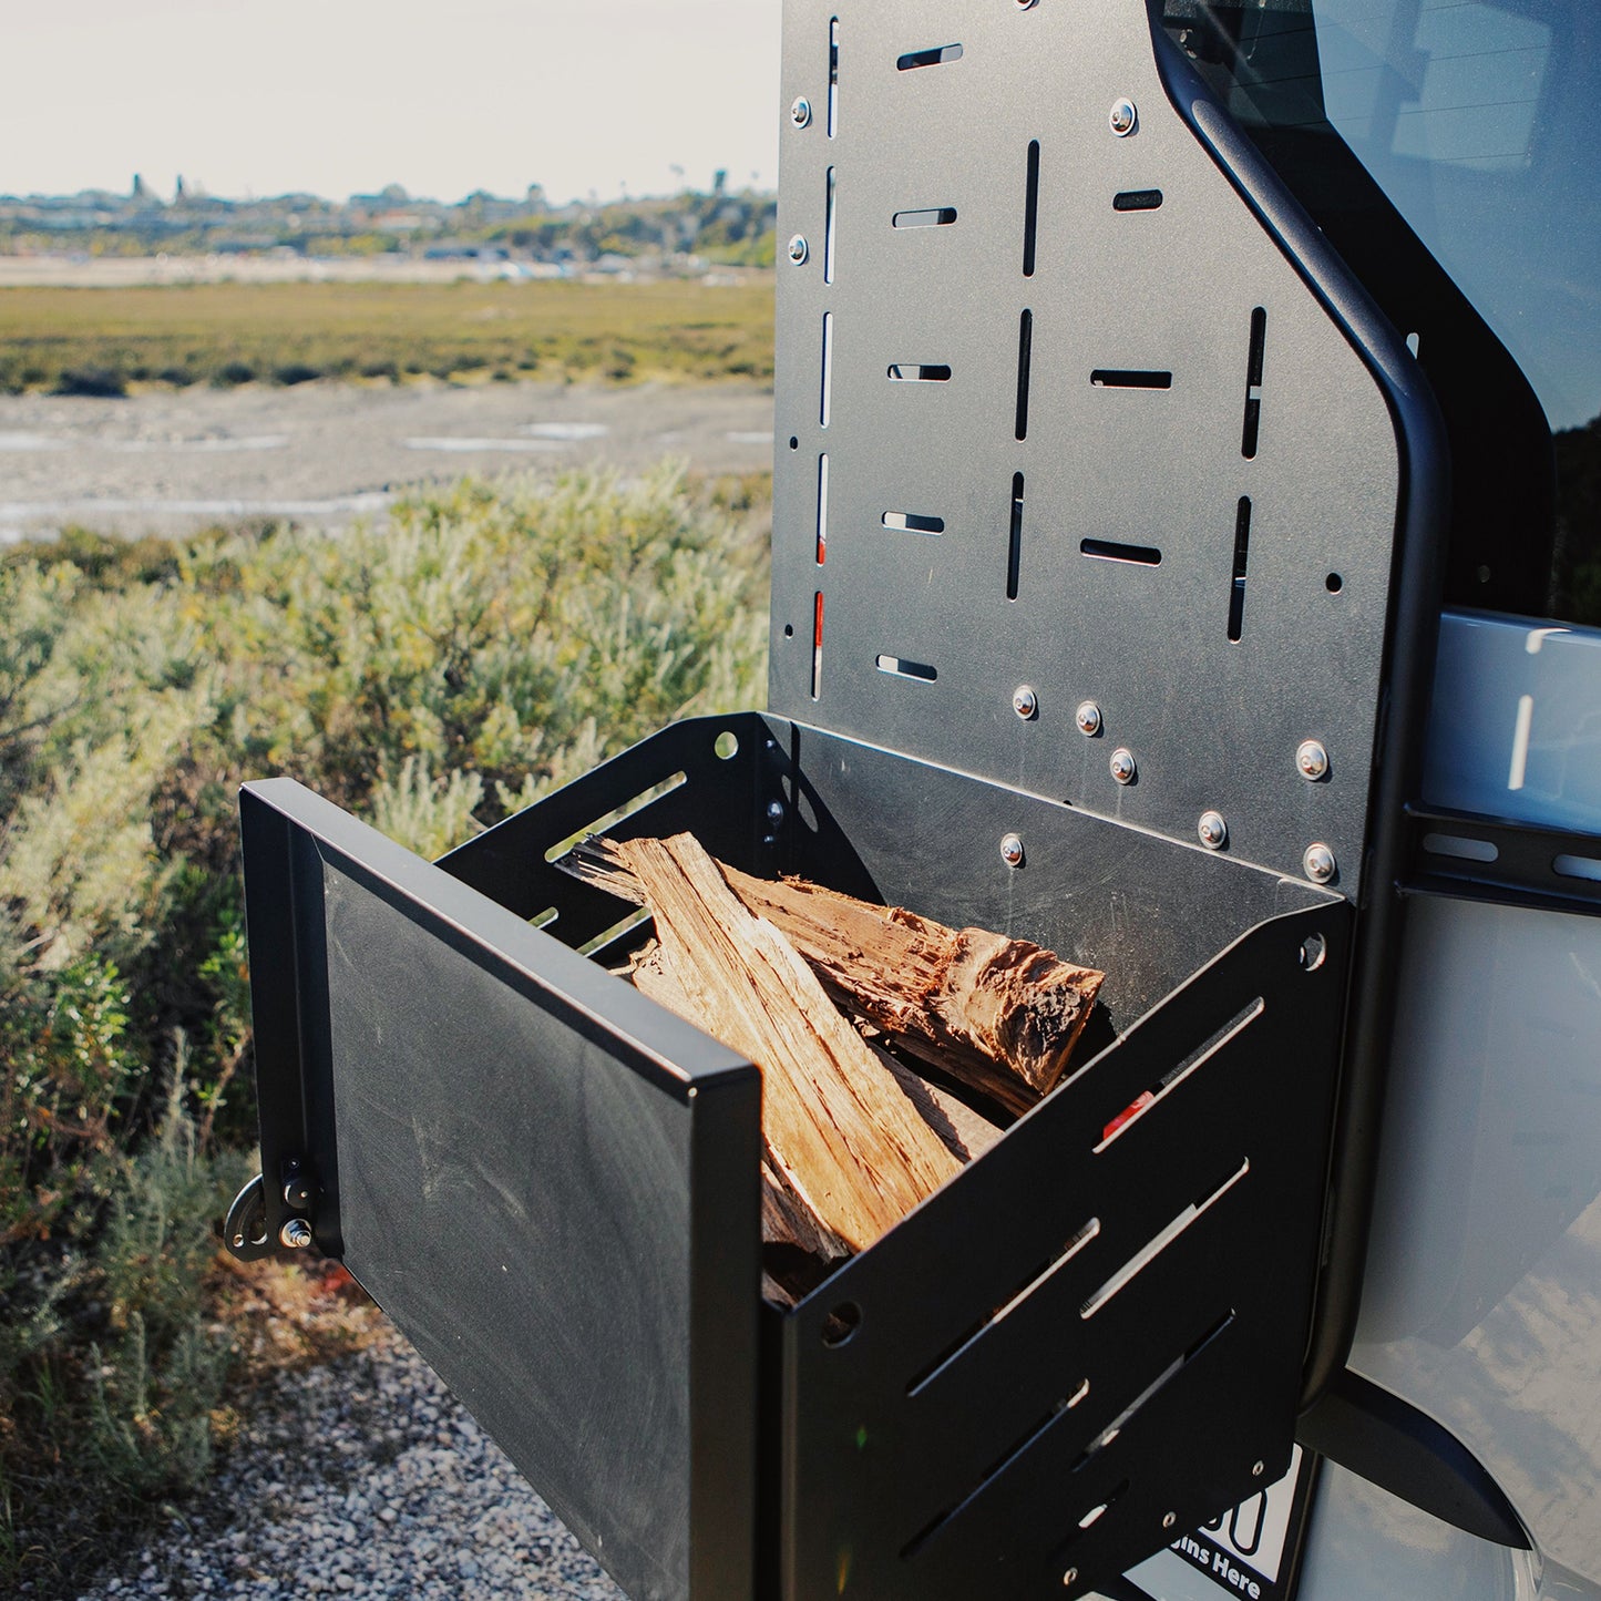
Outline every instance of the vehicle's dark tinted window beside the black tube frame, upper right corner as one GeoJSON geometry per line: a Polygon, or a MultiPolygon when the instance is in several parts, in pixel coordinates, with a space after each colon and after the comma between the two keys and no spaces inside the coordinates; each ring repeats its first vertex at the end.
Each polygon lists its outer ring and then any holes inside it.
{"type": "Polygon", "coordinates": [[[1214,91],[1414,336],[1447,599],[1601,624],[1601,6],[1167,0],[1214,91]]]}

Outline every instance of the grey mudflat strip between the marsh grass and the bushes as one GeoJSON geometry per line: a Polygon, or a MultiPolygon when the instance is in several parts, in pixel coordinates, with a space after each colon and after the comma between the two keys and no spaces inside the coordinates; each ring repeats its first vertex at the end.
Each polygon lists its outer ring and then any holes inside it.
{"type": "Polygon", "coordinates": [[[0,543],[67,524],[183,533],[210,522],[381,517],[405,487],[464,472],[704,472],[773,464],[756,384],[245,384],[91,400],[0,395],[0,543]]]}

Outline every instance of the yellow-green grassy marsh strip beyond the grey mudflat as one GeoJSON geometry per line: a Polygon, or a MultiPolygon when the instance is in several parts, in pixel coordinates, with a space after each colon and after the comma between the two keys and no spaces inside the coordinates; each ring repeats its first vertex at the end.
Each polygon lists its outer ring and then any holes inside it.
{"type": "Polygon", "coordinates": [[[314,378],[770,381],[773,285],[194,283],[0,290],[0,392],[314,378]]]}

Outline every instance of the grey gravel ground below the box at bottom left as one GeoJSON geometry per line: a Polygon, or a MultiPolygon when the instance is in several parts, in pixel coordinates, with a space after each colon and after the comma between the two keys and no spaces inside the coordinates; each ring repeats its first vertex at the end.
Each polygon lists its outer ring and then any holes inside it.
{"type": "Polygon", "coordinates": [[[392,1330],[266,1385],[205,1497],[82,1601],[309,1595],[623,1601],[392,1330]]]}

